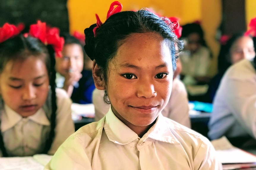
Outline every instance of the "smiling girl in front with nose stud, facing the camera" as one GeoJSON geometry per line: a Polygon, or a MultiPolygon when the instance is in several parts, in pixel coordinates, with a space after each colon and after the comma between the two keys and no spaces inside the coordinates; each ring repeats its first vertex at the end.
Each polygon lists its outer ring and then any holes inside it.
{"type": "Polygon", "coordinates": [[[146,9],[120,10],[113,2],[104,24],[97,17],[85,29],[95,86],[106,90],[111,107],[71,135],[46,169],[221,169],[205,137],[161,114],[171,94],[175,46],[183,46],[175,24],[146,9]]]}

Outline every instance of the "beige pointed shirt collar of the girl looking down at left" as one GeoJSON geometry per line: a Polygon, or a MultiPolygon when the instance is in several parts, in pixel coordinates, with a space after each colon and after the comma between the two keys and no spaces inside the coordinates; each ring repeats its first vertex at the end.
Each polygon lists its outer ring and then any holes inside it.
{"type": "MultiPolygon", "coordinates": [[[[18,122],[20,122],[23,118],[14,110],[12,110],[9,106],[4,104],[4,110],[1,113],[1,131],[4,132],[7,129],[14,127],[18,122]]],[[[45,115],[45,112],[42,108],[40,108],[35,114],[28,116],[27,119],[32,120],[38,124],[49,126],[50,122],[45,115]]]]}

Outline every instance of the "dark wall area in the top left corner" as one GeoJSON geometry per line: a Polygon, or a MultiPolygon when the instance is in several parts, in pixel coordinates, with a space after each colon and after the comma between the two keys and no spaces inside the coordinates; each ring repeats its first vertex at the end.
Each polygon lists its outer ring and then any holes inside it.
{"type": "Polygon", "coordinates": [[[5,22],[18,24],[23,22],[26,26],[37,20],[59,27],[61,32],[69,31],[67,0],[0,0],[0,27],[5,22]]]}

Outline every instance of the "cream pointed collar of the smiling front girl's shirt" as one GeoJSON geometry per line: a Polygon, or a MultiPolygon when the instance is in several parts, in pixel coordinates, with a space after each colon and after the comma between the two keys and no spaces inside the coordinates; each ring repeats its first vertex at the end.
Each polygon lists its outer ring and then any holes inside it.
{"type": "MultiPolygon", "coordinates": [[[[160,113],[157,117],[156,123],[148,130],[148,132],[146,132],[145,135],[143,135],[141,140],[144,141],[147,138],[151,138],[166,143],[180,144],[180,142],[170,130],[172,126],[170,121],[166,121],[166,119],[167,118],[163,117],[160,113]]],[[[135,132],[133,132],[132,129],[127,127],[121,120],[116,117],[111,107],[106,114],[103,127],[106,135],[108,136],[108,139],[120,145],[125,145],[136,139],[140,139],[140,137],[135,132]]]]}

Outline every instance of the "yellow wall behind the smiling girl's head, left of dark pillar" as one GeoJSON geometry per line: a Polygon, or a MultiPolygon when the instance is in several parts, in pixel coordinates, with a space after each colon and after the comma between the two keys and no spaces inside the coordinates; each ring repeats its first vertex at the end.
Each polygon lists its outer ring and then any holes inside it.
{"type": "MultiPolygon", "coordinates": [[[[113,0],[68,0],[70,33],[75,30],[83,33],[85,28],[96,23],[96,13],[104,23],[112,2],[113,0]]],[[[163,16],[180,18],[181,25],[200,20],[206,41],[214,56],[211,74],[215,73],[219,53],[219,43],[215,40],[215,33],[221,21],[221,0],[120,0],[119,2],[123,5],[123,11],[148,7],[163,16]]]]}

